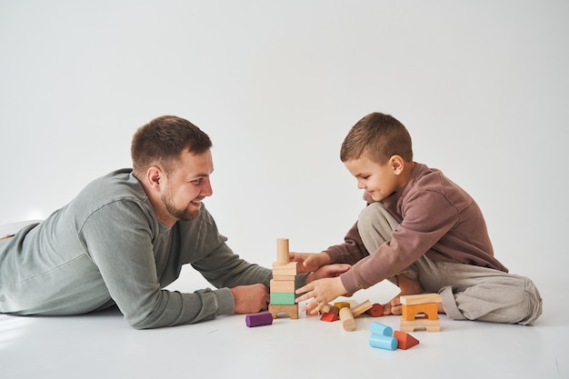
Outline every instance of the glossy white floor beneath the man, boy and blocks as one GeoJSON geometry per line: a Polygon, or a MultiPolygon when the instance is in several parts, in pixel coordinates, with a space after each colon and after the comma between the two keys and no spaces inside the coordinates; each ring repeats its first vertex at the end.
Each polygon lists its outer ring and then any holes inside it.
{"type": "MultiPolygon", "coordinates": [[[[245,315],[233,315],[148,331],[130,328],[116,309],[74,317],[0,315],[0,377],[569,378],[565,288],[540,283],[544,314],[533,326],[443,315],[440,333],[415,331],[420,344],[396,351],[368,344],[370,323],[398,329],[396,316],[358,317],[356,330],[345,332],[340,322],[305,314],[254,328],[245,315]]],[[[394,290],[379,284],[352,300],[383,303],[394,290]]]]}

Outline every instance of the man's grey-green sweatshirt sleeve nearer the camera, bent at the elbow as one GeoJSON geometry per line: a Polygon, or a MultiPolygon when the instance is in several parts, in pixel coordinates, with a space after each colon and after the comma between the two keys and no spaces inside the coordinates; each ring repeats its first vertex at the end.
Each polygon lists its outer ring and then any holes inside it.
{"type": "MultiPolygon", "coordinates": [[[[161,289],[153,250],[158,230],[153,214],[145,206],[115,202],[91,214],[79,234],[125,320],[135,329],[145,329],[192,324],[218,314],[232,314],[234,299],[228,288],[194,293],[161,289]]],[[[230,274],[247,272],[247,264],[227,252],[224,244],[218,251],[204,254],[196,263],[203,262],[200,267],[205,272],[216,262],[222,272],[212,276],[216,284],[233,284],[228,279],[230,274]]],[[[250,275],[252,282],[260,278],[259,274],[250,275]]]]}

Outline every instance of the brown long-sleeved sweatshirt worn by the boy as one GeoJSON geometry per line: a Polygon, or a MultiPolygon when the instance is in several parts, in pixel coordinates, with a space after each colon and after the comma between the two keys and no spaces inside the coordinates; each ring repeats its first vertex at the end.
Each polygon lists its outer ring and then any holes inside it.
{"type": "MultiPolygon", "coordinates": [[[[367,194],[364,200],[373,202],[367,194]]],[[[382,203],[400,224],[391,241],[369,254],[355,223],[343,244],[326,250],[332,263],[354,264],[341,275],[348,293],[400,273],[423,254],[434,261],[508,271],[494,258],[484,216],[474,199],[441,171],[415,163],[407,184],[382,203]]]]}

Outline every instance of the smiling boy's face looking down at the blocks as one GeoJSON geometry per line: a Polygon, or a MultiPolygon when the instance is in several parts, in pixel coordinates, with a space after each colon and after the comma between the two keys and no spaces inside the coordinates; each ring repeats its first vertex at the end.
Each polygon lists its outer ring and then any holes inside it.
{"type": "Polygon", "coordinates": [[[348,171],[357,180],[357,187],[364,189],[374,201],[384,200],[385,197],[393,194],[402,188],[402,166],[394,155],[386,164],[379,165],[366,157],[350,159],[344,162],[348,171]]]}

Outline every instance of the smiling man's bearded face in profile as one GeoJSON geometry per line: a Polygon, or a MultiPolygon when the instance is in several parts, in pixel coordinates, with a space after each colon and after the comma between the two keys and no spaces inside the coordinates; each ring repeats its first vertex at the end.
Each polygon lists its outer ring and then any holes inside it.
{"type": "Polygon", "coordinates": [[[212,153],[200,155],[188,151],[167,178],[161,195],[166,211],[176,220],[193,220],[200,214],[202,200],[213,194],[209,175],[214,171],[212,153]]]}

